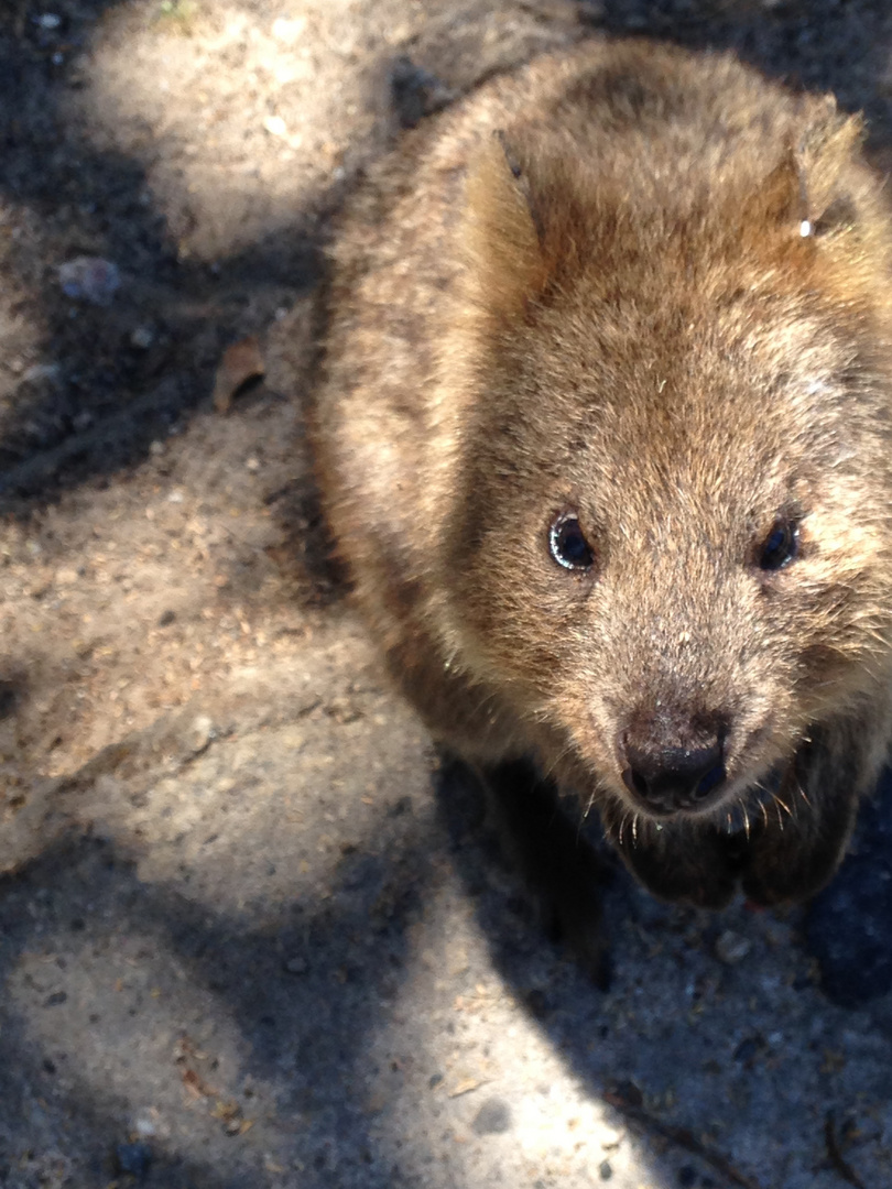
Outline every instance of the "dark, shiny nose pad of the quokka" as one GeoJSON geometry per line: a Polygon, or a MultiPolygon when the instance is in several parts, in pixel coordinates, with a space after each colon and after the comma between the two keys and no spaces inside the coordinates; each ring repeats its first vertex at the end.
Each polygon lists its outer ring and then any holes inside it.
{"type": "Polygon", "coordinates": [[[724,746],[716,737],[709,747],[636,747],[624,744],[627,788],[660,813],[702,809],[724,784],[724,746]]]}

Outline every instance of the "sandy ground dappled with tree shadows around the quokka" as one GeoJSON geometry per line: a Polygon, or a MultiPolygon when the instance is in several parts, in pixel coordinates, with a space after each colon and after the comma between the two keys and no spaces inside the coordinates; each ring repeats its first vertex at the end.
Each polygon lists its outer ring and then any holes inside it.
{"type": "Polygon", "coordinates": [[[858,879],[806,930],[617,876],[596,992],[325,562],[319,247],[397,134],[395,61],[439,102],[604,32],[833,88],[890,163],[867,0],[0,13],[0,1185],[892,1183],[892,1001],[831,1002],[815,958],[858,879]],[[224,414],[249,335],[265,379],[224,414]]]}

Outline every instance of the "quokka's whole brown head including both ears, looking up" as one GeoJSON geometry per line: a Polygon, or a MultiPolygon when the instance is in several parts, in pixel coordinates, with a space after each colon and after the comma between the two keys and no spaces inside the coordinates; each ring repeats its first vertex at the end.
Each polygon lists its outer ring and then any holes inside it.
{"type": "Polygon", "coordinates": [[[662,196],[534,134],[469,183],[452,644],[646,818],[724,816],[892,668],[888,222],[803,111],[662,196]]]}

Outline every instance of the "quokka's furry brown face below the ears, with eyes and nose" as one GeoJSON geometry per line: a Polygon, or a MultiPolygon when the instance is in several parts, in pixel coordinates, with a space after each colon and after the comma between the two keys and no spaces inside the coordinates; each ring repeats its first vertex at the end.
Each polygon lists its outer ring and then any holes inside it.
{"type": "Polygon", "coordinates": [[[577,292],[482,369],[459,652],[634,813],[724,817],[888,672],[888,379],[843,322],[577,292]]]}

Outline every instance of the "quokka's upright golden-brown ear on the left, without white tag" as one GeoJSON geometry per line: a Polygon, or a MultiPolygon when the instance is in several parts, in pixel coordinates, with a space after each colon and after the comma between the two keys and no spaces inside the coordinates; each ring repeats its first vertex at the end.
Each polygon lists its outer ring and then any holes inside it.
{"type": "Polygon", "coordinates": [[[467,296],[491,314],[520,314],[544,287],[547,264],[528,178],[501,134],[471,162],[465,193],[467,296]]]}

